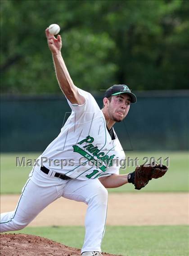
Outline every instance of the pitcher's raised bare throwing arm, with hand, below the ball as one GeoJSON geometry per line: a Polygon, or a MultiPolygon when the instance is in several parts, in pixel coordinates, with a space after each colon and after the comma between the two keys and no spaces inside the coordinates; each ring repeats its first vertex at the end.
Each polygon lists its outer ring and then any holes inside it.
{"type": "Polygon", "coordinates": [[[61,48],[62,48],[61,36],[58,35],[58,37],[55,38],[53,35],[49,33],[48,28],[45,30],[45,34],[47,37],[49,49],[51,50],[51,53],[53,56],[56,77],[61,90],[63,91],[64,95],[72,104],[74,103],[78,105],[84,104],[85,98],[78,93],[77,87],[74,85],[72,78],[70,77],[67,67],[64,63],[64,60],[61,54],[61,48]]]}

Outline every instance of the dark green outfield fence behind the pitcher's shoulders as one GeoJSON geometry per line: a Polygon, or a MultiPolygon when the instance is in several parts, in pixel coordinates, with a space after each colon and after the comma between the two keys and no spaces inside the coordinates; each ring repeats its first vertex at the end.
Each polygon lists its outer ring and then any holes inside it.
{"type": "MultiPolygon", "coordinates": [[[[123,122],[115,124],[124,150],[189,150],[189,91],[136,95],[137,104],[131,105],[123,122]]],[[[102,97],[95,98],[102,107],[102,97]]],[[[2,96],[1,151],[44,151],[58,135],[67,112],[64,96],[2,96]]]]}

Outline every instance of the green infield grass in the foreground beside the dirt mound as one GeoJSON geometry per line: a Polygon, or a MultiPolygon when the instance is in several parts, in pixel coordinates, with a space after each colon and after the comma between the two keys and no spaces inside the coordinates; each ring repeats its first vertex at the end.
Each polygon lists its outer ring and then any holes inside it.
{"type": "MultiPolygon", "coordinates": [[[[20,233],[12,232],[12,233],[20,233]]],[[[83,227],[25,228],[33,234],[81,248],[83,227]]],[[[102,250],[123,256],[188,256],[189,227],[187,226],[107,226],[102,250]]]]}

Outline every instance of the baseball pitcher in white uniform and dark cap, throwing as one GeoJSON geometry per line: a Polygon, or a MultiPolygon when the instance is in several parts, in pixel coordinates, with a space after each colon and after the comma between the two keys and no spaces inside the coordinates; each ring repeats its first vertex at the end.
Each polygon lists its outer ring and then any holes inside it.
{"type": "MultiPolygon", "coordinates": [[[[55,38],[48,28],[45,32],[58,84],[72,113],[58,137],[39,156],[39,165],[31,170],[15,210],[0,215],[0,231],[23,229],[59,197],[82,201],[88,208],[81,254],[102,256],[108,200],[106,188],[136,183],[135,171],[120,175],[120,165],[114,165],[114,160],[125,159],[125,154],[113,129],[114,123],[126,117],[136,96],[126,85],[114,85],[105,92],[104,106],[100,110],[94,97],[72,82],[61,55],[60,35],[55,38]]],[[[146,183],[148,181],[141,187],[146,183]]]]}

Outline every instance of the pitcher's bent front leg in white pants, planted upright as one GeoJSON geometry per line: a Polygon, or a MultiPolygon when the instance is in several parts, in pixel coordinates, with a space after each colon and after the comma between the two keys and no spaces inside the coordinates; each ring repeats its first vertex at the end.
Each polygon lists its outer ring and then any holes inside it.
{"type": "Polygon", "coordinates": [[[85,241],[81,253],[101,251],[107,215],[107,189],[98,179],[71,180],[64,188],[63,197],[88,205],[85,216],[85,241]]]}

